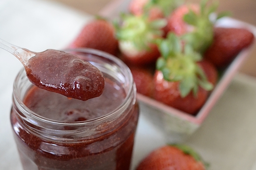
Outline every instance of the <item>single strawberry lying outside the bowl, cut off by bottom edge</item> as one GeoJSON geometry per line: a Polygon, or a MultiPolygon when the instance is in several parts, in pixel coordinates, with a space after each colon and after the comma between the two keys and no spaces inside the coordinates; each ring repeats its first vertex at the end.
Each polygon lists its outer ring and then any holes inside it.
{"type": "Polygon", "coordinates": [[[205,170],[208,164],[187,145],[165,145],[149,153],[136,170],[205,170]]]}

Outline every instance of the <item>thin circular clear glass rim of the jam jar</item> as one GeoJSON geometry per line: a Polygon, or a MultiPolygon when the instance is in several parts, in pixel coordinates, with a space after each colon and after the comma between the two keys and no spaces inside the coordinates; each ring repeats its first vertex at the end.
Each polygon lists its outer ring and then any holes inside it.
{"type": "MultiPolygon", "coordinates": [[[[130,69],[128,68],[128,66],[120,59],[118,59],[117,57],[113,56],[112,54],[100,51],[100,50],[96,50],[96,49],[92,49],[92,48],[70,48],[70,49],[64,49],[64,52],[80,52],[80,53],[87,53],[87,54],[92,54],[92,55],[96,55],[96,56],[102,56],[105,57],[106,59],[113,61],[115,64],[117,64],[118,66],[122,67],[125,71],[125,73],[128,75],[127,79],[129,80],[129,89],[127,90],[127,94],[124,98],[124,101],[122,102],[121,105],[119,105],[117,108],[115,108],[114,110],[112,110],[110,113],[98,117],[98,118],[94,118],[94,119],[90,119],[90,120],[84,120],[84,121],[80,121],[80,122],[63,122],[60,120],[53,120],[50,118],[46,118],[43,117],[41,115],[36,114],[35,112],[33,112],[32,110],[30,110],[24,103],[23,100],[20,98],[20,96],[18,95],[17,92],[17,88],[18,88],[18,79],[22,76],[22,74],[26,74],[25,73],[25,69],[22,68],[17,77],[15,78],[14,81],[14,85],[13,85],[13,100],[17,106],[19,106],[19,110],[23,110],[25,111],[30,117],[33,117],[37,120],[39,120],[40,122],[46,122],[46,123],[50,123],[50,124],[55,124],[55,125],[65,125],[65,126],[73,126],[73,125],[86,125],[86,124],[91,124],[94,122],[98,122],[98,121],[102,121],[105,120],[113,115],[115,115],[116,113],[118,113],[120,110],[123,110],[126,108],[126,106],[131,102],[135,103],[135,98],[136,98],[136,87],[135,87],[135,83],[133,81],[133,77],[132,77],[132,73],[130,71],[130,69]],[[131,97],[134,95],[134,97],[131,99],[131,97]]],[[[25,75],[26,77],[26,75],[25,75]]],[[[26,77],[27,78],[27,77],[26,77]]],[[[31,83],[32,84],[32,83],[31,83]]]]}

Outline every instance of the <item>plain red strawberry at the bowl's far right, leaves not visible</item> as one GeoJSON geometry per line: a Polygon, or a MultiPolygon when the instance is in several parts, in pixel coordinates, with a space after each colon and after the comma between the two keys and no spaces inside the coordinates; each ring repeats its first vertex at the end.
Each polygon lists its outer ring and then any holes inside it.
{"type": "Polygon", "coordinates": [[[204,54],[216,67],[227,66],[236,55],[254,41],[254,35],[243,28],[214,28],[214,40],[204,54]]]}

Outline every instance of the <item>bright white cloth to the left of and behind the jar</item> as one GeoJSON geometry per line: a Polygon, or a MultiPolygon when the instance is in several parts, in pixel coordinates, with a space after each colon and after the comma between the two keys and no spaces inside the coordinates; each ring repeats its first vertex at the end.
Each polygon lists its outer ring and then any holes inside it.
{"type": "MultiPolygon", "coordinates": [[[[0,38],[34,52],[65,48],[91,18],[42,0],[0,0],[0,38]]],[[[23,65],[0,49],[0,170],[21,170],[9,114],[13,82],[23,65]]]]}

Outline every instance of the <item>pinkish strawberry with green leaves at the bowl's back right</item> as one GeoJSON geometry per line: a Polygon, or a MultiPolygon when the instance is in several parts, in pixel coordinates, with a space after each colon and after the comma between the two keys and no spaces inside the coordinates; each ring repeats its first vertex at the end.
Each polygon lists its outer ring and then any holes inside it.
{"type": "Polygon", "coordinates": [[[214,21],[210,14],[217,9],[217,4],[207,6],[208,0],[201,0],[198,4],[185,4],[178,7],[167,19],[168,32],[173,32],[182,37],[183,41],[203,53],[213,41],[213,28],[216,19],[226,15],[218,14],[214,21]]]}

